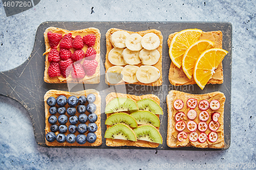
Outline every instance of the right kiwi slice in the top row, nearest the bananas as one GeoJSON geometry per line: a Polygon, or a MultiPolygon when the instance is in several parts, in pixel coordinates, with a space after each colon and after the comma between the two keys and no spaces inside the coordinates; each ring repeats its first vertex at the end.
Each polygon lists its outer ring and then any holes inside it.
{"type": "Polygon", "coordinates": [[[163,114],[162,108],[152,99],[142,99],[137,102],[139,110],[150,111],[154,114],[163,114]]]}

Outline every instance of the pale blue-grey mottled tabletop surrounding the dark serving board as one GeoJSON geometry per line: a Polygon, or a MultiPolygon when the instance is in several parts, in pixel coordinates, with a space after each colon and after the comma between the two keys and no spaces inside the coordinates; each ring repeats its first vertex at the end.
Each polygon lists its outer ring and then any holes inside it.
{"type": "Polygon", "coordinates": [[[0,169],[253,169],[255,6],[255,1],[41,1],[28,11],[6,17],[0,3],[0,71],[25,62],[36,29],[44,21],[227,21],[233,29],[228,150],[44,148],[35,142],[26,109],[0,96],[0,169]]]}

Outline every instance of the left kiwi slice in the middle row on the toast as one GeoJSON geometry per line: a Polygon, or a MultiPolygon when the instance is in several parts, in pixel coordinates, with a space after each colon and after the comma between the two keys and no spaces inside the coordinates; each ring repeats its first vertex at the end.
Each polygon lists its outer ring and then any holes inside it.
{"type": "Polygon", "coordinates": [[[132,128],[138,127],[135,118],[133,116],[130,116],[130,114],[126,114],[126,113],[114,113],[111,116],[109,116],[105,121],[105,125],[111,125],[111,126],[119,123],[123,123],[132,128]]]}

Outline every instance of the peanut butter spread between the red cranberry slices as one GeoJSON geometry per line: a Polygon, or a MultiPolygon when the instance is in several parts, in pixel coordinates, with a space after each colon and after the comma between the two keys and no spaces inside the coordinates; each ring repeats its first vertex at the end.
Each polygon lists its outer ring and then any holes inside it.
{"type": "MultiPolygon", "coordinates": [[[[191,96],[191,98],[197,99],[198,103],[199,103],[201,100],[204,100],[204,99],[207,100],[209,103],[210,103],[211,100],[218,100],[218,101],[220,102],[220,108],[219,108],[218,110],[212,110],[212,109],[210,109],[210,108],[206,110],[206,111],[209,113],[209,116],[210,116],[209,119],[206,121],[206,124],[207,124],[207,125],[209,125],[209,122],[211,121],[211,114],[212,114],[212,113],[215,113],[215,112],[220,113],[220,117],[219,117],[219,119],[218,119],[218,122],[220,123],[220,127],[219,127],[219,129],[216,131],[217,134],[218,134],[218,140],[217,140],[216,142],[214,142],[214,143],[210,142],[208,139],[207,139],[204,143],[201,143],[201,142],[199,142],[199,141],[191,142],[191,141],[189,140],[189,133],[190,133],[190,131],[189,131],[189,130],[187,129],[187,127],[186,127],[183,131],[187,133],[187,138],[184,139],[182,142],[180,142],[180,141],[177,139],[177,140],[176,140],[176,145],[177,145],[177,146],[186,146],[188,143],[190,143],[191,145],[193,145],[193,146],[195,146],[195,147],[206,148],[208,144],[216,144],[216,143],[223,142],[223,141],[224,141],[223,118],[224,118],[224,103],[225,103],[225,96],[224,96],[224,94],[223,94],[223,93],[216,93],[216,94],[214,94],[214,93],[208,93],[208,95],[204,96],[204,98],[200,98],[200,96],[197,97],[197,96],[195,96],[195,95],[194,95],[194,96],[191,96]]],[[[180,111],[182,111],[182,112],[184,112],[185,115],[186,115],[186,116],[184,117],[184,119],[182,119],[182,120],[183,120],[186,124],[187,124],[187,122],[190,120],[190,119],[187,117],[187,112],[190,110],[190,108],[188,108],[187,105],[186,105],[186,102],[187,102],[187,100],[188,100],[189,98],[188,98],[187,96],[184,96],[184,95],[182,95],[182,94],[177,93],[177,95],[174,97],[173,102],[174,102],[175,100],[177,100],[177,99],[180,99],[180,100],[183,101],[184,107],[183,107],[181,110],[176,110],[176,109],[174,108],[173,103],[172,103],[172,109],[174,110],[174,112],[173,112],[173,119],[172,119],[172,124],[173,124],[173,126],[174,126],[174,129],[173,129],[172,134],[173,134],[173,136],[174,136],[175,138],[177,138],[177,135],[178,135],[178,133],[179,133],[179,131],[177,131],[177,130],[175,129],[175,124],[176,124],[175,114],[178,113],[178,112],[180,112],[180,111]]],[[[199,113],[202,112],[202,110],[199,109],[198,105],[197,105],[197,107],[196,107],[194,110],[196,110],[196,112],[197,112],[197,117],[196,117],[193,121],[198,124],[199,122],[201,122],[201,120],[199,119],[199,113]]],[[[198,129],[196,130],[196,132],[197,132],[198,134],[201,133],[198,129]]],[[[207,129],[204,133],[206,133],[206,134],[208,135],[210,132],[211,132],[211,130],[210,130],[209,127],[208,127],[208,129],[207,129]]]]}

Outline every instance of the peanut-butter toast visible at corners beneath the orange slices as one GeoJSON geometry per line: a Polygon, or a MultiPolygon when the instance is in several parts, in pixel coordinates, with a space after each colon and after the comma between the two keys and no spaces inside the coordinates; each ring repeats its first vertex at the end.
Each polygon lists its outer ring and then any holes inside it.
{"type": "MultiPolygon", "coordinates": [[[[169,35],[167,40],[168,46],[170,46],[170,42],[172,41],[176,33],[169,35]]],[[[208,39],[215,43],[214,48],[222,48],[222,32],[221,31],[203,32],[200,39],[208,39]]],[[[182,67],[178,68],[176,65],[174,65],[173,62],[170,64],[170,68],[169,68],[169,82],[170,84],[175,86],[196,84],[193,77],[189,80],[185,72],[183,71],[182,67]]],[[[211,79],[207,82],[207,84],[222,84],[222,83],[223,83],[223,68],[221,63],[215,69],[215,74],[212,75],[211,79]]]]}

